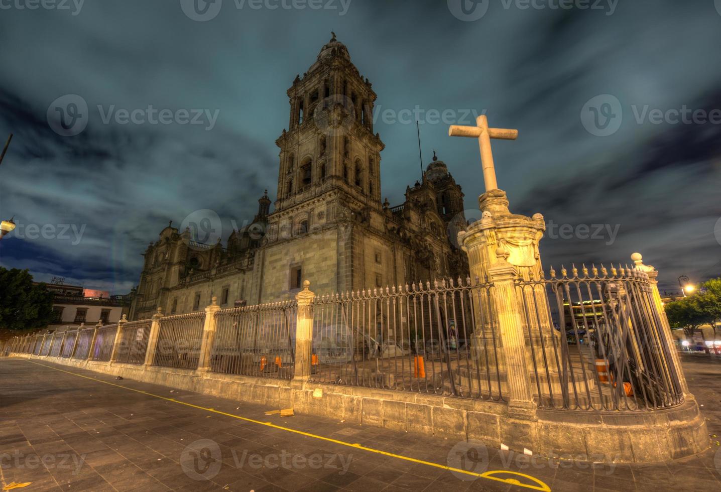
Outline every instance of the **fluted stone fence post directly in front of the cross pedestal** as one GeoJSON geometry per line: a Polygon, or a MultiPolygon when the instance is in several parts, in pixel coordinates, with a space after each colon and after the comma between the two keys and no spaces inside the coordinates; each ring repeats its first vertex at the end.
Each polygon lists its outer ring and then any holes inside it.
{"type": "Polygon", "coordinates": [[[518,312],[515,281],[518,270],[508,263],[508,252],[496,249],[496,263],[488,265],[493,286],[490,289],[498,324],[505,374],[508,378],[508,415],[524,420],[536,419],[536,402],[531,391],[531,372],[526,361],[526,341],[521,313],[518,312]]]}

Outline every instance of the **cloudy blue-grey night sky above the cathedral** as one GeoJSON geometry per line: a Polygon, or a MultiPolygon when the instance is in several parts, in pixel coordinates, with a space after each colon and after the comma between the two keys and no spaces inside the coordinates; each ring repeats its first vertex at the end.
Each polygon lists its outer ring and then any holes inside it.
{"type": "Polygon", "coordinates": [[[0,0],[0,265],[125,294],[169,221],[217,214],[225,241],[275,200],[286,90],[331,31],[378,95],[392,206],[417,118],[477,214],[478,146],[448,124],[485,113],[519,131],[497,180],[544,215],[546,268],[721,276],[721,0],[0,0]]]}

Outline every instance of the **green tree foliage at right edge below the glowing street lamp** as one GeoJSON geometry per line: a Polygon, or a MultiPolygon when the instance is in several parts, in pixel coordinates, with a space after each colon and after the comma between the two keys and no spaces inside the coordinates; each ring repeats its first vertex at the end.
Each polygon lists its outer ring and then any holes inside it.
{"type": "Polygon", "coordinates": [[[721,320],[721,278],[704,282],[696,294],[669,302],[665,312],[671,328],[683,328],[688,336],[701,325],[711,325],[715,332],[721,320]]]}

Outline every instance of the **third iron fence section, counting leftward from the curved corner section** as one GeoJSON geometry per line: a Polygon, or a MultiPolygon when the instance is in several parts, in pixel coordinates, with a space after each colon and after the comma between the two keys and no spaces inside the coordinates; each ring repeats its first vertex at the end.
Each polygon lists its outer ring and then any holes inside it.
{"type": "Polygon", "coordinates": [[[218,311],[211,371],[291,379],[297,309],[286,301],[218,311]]]}

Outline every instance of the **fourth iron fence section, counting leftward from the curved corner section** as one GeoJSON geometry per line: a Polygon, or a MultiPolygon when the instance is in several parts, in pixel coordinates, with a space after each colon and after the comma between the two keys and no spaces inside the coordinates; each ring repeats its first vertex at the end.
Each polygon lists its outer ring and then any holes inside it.
{"type": "Polygon", "coordinates": [[[160,318],[154,366],[198,369],[204,312],[160,318]]]}

